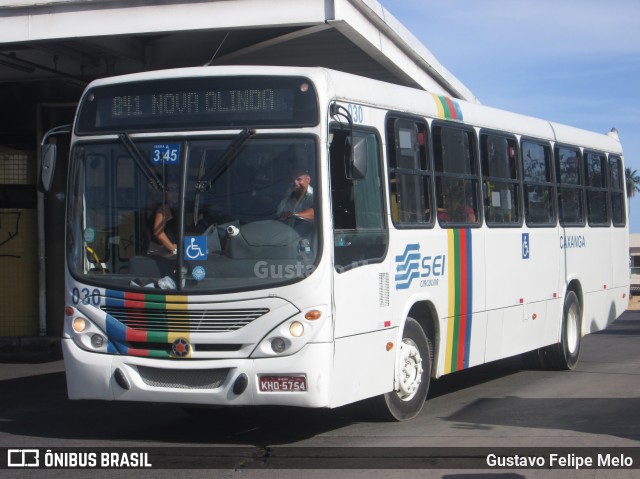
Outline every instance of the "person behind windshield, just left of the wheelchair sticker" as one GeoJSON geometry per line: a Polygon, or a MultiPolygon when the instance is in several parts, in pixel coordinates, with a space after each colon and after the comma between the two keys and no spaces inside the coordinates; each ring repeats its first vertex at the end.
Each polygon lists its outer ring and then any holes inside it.
{"type": "Polygon", "coordinates": [[[156,205],[152,218],[152,235],[149,254],[171,256],[178,252],[178,188],[169,186],[164,201],[156,205]]]}

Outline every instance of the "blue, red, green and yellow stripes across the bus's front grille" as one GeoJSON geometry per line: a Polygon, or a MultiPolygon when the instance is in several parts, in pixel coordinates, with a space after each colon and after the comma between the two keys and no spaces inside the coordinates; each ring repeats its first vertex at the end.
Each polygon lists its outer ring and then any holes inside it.
{"type": "MultiPolygon", "coordinates": [[[[189,309],[186,296],[171,296],[158,294],[126,293],[122,291],[105,291],[105,306],[126,308],[127,314],[135,318],[141,326],[146,321],[146,311],[153,311],[154,322],[166,321],[164,311],[189,309]]],[[[146,356],[156,358],[171,357],[167,350],[130,348],[127,343],[160,343],[171,344],[178,338],[190,340],[188,331],[147,331],[145,329],[133,329],[125,326],[120,321],[106,315],[106,332],[109,339],[108,351],[116,354],[128,354],[131,356],[146,356]]]]}

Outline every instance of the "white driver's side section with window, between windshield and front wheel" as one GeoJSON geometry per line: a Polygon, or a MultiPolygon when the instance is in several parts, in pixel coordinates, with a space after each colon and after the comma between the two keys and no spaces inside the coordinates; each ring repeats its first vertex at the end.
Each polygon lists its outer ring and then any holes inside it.
{"type": "Polygon", "coordinates": [[[385,326],[388,230],[379,139],[370,130],[336,129],[329,154],[336,339],[332,395],[337,406],[389,391],[395,351],[385,351],[385,345],[395,340],[397,330],[385,326]],[[349,171],[345,149],[351,133],[353,144],[366,151],[364,177],[349,171]]]}

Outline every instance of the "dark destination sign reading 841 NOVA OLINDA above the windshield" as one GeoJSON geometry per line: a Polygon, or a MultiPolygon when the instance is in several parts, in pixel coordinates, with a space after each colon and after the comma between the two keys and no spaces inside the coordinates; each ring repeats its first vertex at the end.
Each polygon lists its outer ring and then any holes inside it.
{"type": "Polygon", "coordinates": [[[206,77],[121,83],[85,95],[78,134],[313,126],[315,90],[304,78],[206,77]]]}

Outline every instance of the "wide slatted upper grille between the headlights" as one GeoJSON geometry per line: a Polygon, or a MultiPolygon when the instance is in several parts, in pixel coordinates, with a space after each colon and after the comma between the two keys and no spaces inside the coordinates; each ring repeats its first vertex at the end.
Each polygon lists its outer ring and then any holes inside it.
{"type": "Polygon", "coordinates": [[[237,331],[269,312],[257,309],[158,310],[103,306],[131,329],[158,332],[225,333],[237,331]]]}

